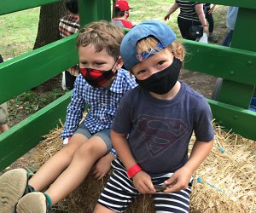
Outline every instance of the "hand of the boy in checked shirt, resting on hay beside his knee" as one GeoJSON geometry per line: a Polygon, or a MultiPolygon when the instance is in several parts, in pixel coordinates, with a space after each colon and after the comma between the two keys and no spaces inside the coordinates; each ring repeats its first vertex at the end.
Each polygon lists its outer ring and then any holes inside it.
{"type": "Polygon", "coordinates": [[[114,160],[113,154],[108,153],[102,158],[100,158],[92,168],[92,174],[98,180],[101,180],[104,176],[108,174],[111,169],[111,162],[114,160]]]}

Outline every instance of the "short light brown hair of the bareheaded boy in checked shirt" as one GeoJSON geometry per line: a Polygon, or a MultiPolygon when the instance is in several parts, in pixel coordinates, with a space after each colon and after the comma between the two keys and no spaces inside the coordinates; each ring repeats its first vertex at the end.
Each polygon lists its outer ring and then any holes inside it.
{"type": "Polygon", "coordinates": [[[77,37],[77,48],[93,45],[96,52],[105,49],[114,59],[119,57],[120,44],[125,32],[111,22],[101,20],[84,26],[77,37]]]}

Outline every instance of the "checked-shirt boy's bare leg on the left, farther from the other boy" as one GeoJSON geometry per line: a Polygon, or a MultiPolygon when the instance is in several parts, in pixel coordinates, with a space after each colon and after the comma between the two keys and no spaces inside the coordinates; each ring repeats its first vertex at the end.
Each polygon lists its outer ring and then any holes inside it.
{"type": "Polygon", "coordinates": [[[81,147],[85,141],[87,141],[87,138],[84,135],[73,135],[67,146],[61,148],[52,158],[49,158],[49,160],[40,167],[37,173],[32,176],[28,184],[37,191],[42,191],[45,187],[48,187],[60,176],[63,170],[66,170],[73,159],[75,151],[81,147]]]}

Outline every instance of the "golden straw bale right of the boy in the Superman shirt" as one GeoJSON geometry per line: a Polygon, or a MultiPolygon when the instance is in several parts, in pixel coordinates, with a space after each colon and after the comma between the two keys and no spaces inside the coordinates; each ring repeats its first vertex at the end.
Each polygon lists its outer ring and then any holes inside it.
{"type": "Polygon", "coordinates": [[[256,142],[214,129],[212,152],[195,171],[191,210],[256,212],[256,142]]]}

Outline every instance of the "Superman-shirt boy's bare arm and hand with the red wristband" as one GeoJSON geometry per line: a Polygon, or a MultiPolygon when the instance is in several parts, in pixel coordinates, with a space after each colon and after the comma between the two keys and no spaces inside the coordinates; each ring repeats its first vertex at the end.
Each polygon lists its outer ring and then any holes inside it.
{"type": "MultiPolygon", "coordinates": [[[[111,140],[126,170],[129,170],[134,164],[137,164],[135,158],[133,158],[125,134],[119,134],[111,130],[111,140]]],[[[135,176],[132,176],[132,181],[140,193],[155,193],[151,177],[143,170],[137,172],[135,176]]]]}

